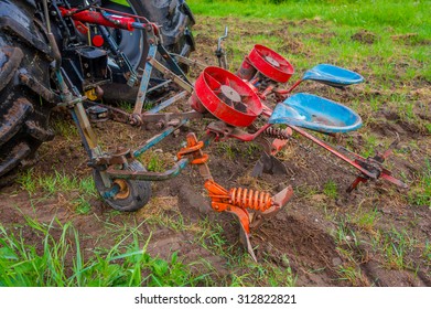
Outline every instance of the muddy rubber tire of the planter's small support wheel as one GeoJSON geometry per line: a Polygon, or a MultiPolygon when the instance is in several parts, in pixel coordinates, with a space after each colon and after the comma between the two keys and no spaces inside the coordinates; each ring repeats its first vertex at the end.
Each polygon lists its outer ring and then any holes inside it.
{"type": "MultiPolygon", "coordinates": [[[[132,161],[129,164],[131,171],[146,171],[142,164],[138,161],[132,161]]],[[[143,180],[126,180],[130,194],[126,199],[105,199],[104,193],[110,191],[110,188],[106,188],[100,177],[100,172],[94,170],[93,177],[95,180],[96,189],[103,196],[104,201],[112,209],[121,212],[134,212],[142,209],[151,198],[151,182],[143,180]]]]}

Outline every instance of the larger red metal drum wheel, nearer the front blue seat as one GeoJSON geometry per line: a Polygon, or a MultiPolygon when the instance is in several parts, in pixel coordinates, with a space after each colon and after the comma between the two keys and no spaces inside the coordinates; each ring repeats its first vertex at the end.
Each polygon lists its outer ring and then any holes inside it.
{"type": "Polygon", "coordinates": [[[238,76],[216,66],[206,67],[195,83],[190,104],[202,113],[204,106],[222,121],[248,127],[262,113],[254,90],[238,76]]]}

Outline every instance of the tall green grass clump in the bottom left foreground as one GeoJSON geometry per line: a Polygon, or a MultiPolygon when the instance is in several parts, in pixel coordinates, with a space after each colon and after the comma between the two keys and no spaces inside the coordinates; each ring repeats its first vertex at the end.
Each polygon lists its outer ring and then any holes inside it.
{"type": "Polygon", "coordinates": [[[53,220],[45,225],[31,219],[26,223],[41,239],[40,247],[0,225],[2,287],[194,286],[202,279],[192,276],[176,253],[169,260],[150,256],[147,247],[151,235],[141,244],[137,233],[129,234],[106,254],[86,257],[71,223],[62,225],[53,220]]]}

